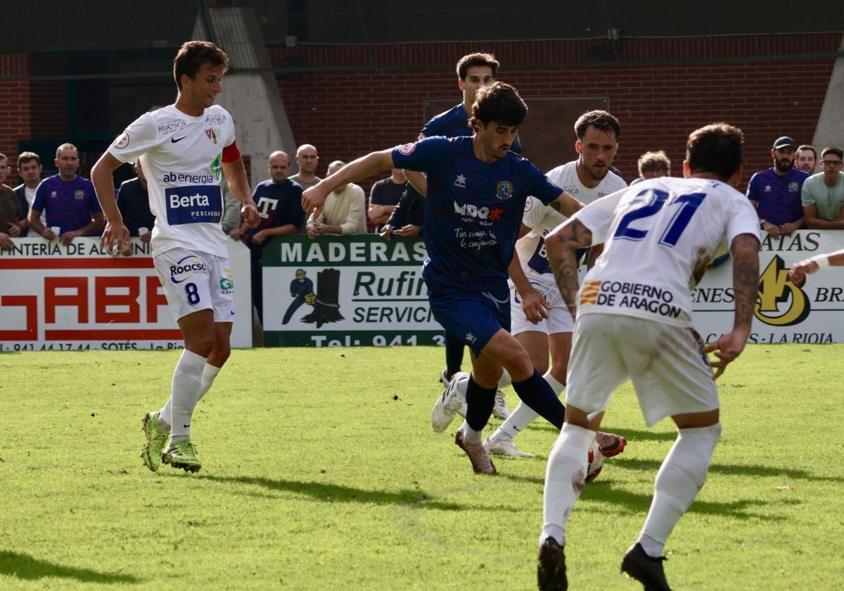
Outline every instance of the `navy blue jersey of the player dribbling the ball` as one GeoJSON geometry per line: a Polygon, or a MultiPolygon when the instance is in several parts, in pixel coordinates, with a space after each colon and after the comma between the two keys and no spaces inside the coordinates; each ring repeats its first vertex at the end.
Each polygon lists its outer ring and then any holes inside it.
{"type": "Polygon", "coordinates": [[[485,291],[507,279],[528,195],[542,203],[562,189],[529,160],[474,155],[472,138],[425,138],[392,150],[395,168],[428,173],[425,280],[485,291]]]}

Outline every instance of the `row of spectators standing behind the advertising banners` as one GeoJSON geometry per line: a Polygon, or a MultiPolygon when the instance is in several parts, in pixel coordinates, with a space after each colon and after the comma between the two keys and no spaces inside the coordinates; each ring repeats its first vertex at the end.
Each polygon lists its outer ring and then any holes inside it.
{"type": "MultiPolygon", "coordinates": [[[[273,236],[304,234],[345,236],[373,231],[385,240],[394,236],[421,236],[425,223],[425,197],[414,189],[404,171],[374,183],[370,196],[354,183],[338,187],[327,198],[317,216],[301,208],[301,194],[322,179],[317,176],[319,154],[311,144],[295,153],[298,171],[291,175],[293,162],[283,151],[273,152],[267,162],[270,178],[257,183],[253,197],[261,223],[250,229],[241,225],[235,198],[223,183],[225,208],[223,230],[232,240],[249,247],[252,258],[252,295],[257,323],[262,322],[262,252],[273,236]]],[[[0,154],[0,249],[14,249],[18,238],[42,236],[68,245],[77,236],[99,236],[103,214],[88,178],[78,174],[79,154],[73,144],[56,150],[56,175],[42,178],[41,156],[25,151],[18,156],[17,187],[6,184],[12,167],[0,154]]],[[[345,163],[334,160],[328,175],[345,163]]],[[[827,146],[798,145],[792,138],[776,138],[771,145],[771,168],[750,177],[747,197],[759,215],[760,228],[774,237],[788,236],[800,229],[844,229],[844,150],[827,146]],[[820,171],[816,169],[820,166],[820,171]]],[[[149,195],[140,162],[134,165],[135,178],[123,182],[116,191],[117,205],[130,235],[142,242],[152,237],[155,218],[149,210],[149,195]]],[[[618,172],[618,171],[615,171],[618,172]]],[[[639,176],[630,184],[657,176],[671,176],[671,161],[663,150],[646,152],[638,160],[639,176]]],[[[130,256],[132,250],[122,252],[130,256]]],[[[258,325],[257,325],[258,326],[258,325]]]]}

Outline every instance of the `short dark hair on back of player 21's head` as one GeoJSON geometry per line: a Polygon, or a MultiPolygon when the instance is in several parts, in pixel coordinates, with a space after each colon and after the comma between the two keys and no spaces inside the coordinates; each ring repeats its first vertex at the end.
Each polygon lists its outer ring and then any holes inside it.
{"type": "Polygon", "coordinates": [[[741,166],[744,133],[728,123],[695,129],[686,142],[686,161],[693,173],[711,172],[724,182],[741,166]]]}

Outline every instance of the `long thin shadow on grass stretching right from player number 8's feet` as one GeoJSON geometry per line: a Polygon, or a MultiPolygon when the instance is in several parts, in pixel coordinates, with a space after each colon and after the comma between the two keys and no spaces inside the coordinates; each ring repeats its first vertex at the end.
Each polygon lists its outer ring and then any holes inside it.
{"type": "Polygon", "coordinates": [[[300,482],[298,480],[281,480],[262,478],[258,476],[214,476],[202,475],[197,479],[212,480],[225,484],[258,485],[271,491],[294,492],[311,496],[317,501],[327,502],[360,502],[375,503],[376,505],[406,505],[423,509],[439,509],[441,511],[463,511],[472,509],[468,505],[453,502],[431,501],[424,491],[403,489],[398,492],[367,491],[352,486],[333,485],[324,482],[300,482]]]}

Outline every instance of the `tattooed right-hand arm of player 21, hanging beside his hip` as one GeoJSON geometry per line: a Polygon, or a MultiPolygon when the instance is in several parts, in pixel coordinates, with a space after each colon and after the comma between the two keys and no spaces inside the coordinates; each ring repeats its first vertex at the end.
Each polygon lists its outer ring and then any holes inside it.
{"type": "Polygon", "coordinates": [[[710,360],[715,368],[712,379],[721,376],[728,364],[744,350],[753,321],[753,310],[759,296],[759,240],[752,234],[739,234],[730,247],[733,255],[733,290],[735,314],[733,330],[703,348],[704,353],[715,353],[717,360],[710,360]]]}

